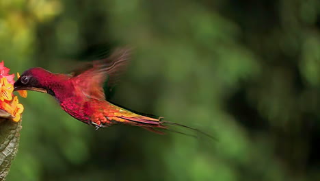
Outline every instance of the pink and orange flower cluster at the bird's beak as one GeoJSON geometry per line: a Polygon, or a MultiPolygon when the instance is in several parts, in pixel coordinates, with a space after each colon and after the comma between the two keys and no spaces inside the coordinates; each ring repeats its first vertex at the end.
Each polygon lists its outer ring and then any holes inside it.
{"type": "MultiPolygon", "coordinates": [[[[5,110],[14,117],[13,121],[19,121],[23,112],[23,105],[19,104],[18,97],[13,95],[14,74],[9,75],[10,69],[0,62],[0,109],[5,110]]],[[[20,75],[17,73],[17,77],[20,75]]],[[[21,97],[27,97],[26,90],[20,90],[21,97]]]]}

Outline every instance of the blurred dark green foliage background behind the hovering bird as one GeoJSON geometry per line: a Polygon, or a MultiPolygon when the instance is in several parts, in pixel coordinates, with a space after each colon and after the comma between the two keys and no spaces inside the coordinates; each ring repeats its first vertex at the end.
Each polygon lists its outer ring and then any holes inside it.
{"type": "Polygon", "coordinates": [[[29,92],[7,180],[320,180],[319,29],[318,0],[1,0],[11,73],[129,45],[111,100],[219,139],[95,131],[29,92]]]}

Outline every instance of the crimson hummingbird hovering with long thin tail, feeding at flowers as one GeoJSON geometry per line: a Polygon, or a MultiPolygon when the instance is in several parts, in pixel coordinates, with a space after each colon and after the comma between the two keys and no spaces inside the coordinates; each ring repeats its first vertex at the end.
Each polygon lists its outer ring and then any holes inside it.
{"type": "Polygon", "coordinates": [[[129,49],[116,49],[108,58],[87,62],[69,74],[51,73],[40,67],[31,68],[14,83],[14,90],[34,90],[52,95],[62,110],[94,126],[96,130],[124,124],[163,134],[161,130],[170,130],[168,125],[178,125],[201,132],[196,128],[166,121],[163,117],[133,112],[107,101],[103,85],[107,82],[107,87],[112,87],[118,82],[129,63],[130,52],[129,49]]]}

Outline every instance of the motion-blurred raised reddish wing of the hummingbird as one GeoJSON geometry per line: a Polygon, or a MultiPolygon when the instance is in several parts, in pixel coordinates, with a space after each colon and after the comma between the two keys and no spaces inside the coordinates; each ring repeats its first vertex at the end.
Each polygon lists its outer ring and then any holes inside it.
{"type": "Polygon", "coordinates": [[[104,100],[104,82],[107,80],[111,87],[119,81],[120,75],[126,70],[129,56],[129,49],[116,49],[109,58],[83,64],[71,73],[72,79],[87,97],[104,100]]]}

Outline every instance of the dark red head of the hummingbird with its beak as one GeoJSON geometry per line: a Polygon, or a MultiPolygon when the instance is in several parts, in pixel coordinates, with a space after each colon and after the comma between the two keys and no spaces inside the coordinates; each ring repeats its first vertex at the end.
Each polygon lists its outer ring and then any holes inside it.
{"type": "Polygon", "coordinates": [[[31,68],[14,82],[14,90],[34,90],[40,93],[50,93],[48,84],[52,75],[53,73],[45,69],[31,68]]]}

